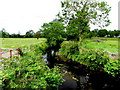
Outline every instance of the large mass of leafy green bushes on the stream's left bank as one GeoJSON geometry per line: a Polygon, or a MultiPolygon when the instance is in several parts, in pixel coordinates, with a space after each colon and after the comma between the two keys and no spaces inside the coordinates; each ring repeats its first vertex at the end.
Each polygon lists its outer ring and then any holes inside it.
{"type": "Polygon", "coordinates": [[[50,69],[43,62],[40,53],[43,46],[31,46],[23,57],[15,56],[3,62],[3,88],[58,88],[63,82],[62,75],[57,67],[50,69]]]}

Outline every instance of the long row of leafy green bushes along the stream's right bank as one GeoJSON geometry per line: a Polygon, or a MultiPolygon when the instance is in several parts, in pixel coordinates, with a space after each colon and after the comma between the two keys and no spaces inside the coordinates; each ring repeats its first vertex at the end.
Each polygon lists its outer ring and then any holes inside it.
{"type": "Polygon", "coordinates": [[[104,70],[112,76],[120,74],[119,60],[112,61],[107,53],[100,49],[86,49],[76,42],[64,42],[60,53],[69,59],[88,66],[91,70],[104,70]]]}

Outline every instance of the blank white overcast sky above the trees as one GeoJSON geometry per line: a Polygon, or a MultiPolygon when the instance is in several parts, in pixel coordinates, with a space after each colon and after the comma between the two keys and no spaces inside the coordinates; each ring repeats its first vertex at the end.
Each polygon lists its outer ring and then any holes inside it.
{"type": "MultiPolygon", "coordinates": [[[[112,7],[111,24],[105,29],[118,29],[118,1],[107,1],[112,7]]],[[[61,10],[60,0],[0,0],[0,30],[25,34],[29,30],[38,31],[43,23],[55,19],[61,10]]],[[[96,27],[92,27],[93,29],[96,27]]]]}

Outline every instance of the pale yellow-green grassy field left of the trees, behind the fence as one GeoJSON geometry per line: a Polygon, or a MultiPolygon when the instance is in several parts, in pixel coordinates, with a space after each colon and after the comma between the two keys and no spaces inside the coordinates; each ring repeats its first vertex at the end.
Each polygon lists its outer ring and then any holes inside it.
{"type": "Polygon", "coordinates": [[[45,41],[45,38],[0,38],[0,41],[2,41],[1,48],[19,48],[23,46],[29,46],[31,44],[37,44],[40,42],[45,41]]]}

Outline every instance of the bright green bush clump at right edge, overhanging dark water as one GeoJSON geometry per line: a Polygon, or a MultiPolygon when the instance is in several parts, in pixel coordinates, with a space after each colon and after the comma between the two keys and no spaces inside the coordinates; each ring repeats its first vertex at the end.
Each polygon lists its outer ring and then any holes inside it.
{"type": "Polygon", "coordinates": [[[114,61],[108,62],[105,65],[104,70],[107,73],[111,74],[112,76],[120,75],[120,63],[119,63],[119,60],[114,60],[114,61]]]}

